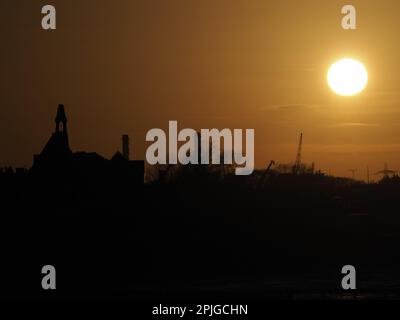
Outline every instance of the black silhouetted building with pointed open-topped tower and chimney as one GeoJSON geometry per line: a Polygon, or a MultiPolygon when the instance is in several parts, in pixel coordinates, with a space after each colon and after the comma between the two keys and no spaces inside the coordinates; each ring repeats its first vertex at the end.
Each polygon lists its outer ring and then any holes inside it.
{"type": "Polygon", "coordinates": [[[69,146],[67,117],[63,105],[58,106],[56,128],[42,152],[34,155],[31,171],[36,175],[58,179],[88,181],[96,187],[108,184],[138,186],[144,183],[144,161],[129,159],[129,137],[122,138],[122,154],[117,151],[110,159],[95,152],[73,152],[69,146]]]}

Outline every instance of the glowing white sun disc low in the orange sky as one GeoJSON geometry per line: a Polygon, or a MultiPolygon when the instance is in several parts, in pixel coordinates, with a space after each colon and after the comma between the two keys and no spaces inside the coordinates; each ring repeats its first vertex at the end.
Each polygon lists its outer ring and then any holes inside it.
{"type": "Polygon", "coordinates": [[[364,65],[354,59],[342,59],[331,65],[328,71],[329,87],[341,96],[360,93],[368,82],[364,65]]]}

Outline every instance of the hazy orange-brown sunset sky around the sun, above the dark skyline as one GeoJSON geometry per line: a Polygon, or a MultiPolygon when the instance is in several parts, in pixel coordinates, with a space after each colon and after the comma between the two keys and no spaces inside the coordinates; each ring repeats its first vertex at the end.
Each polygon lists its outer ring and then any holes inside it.
{"type": "Polygon", "coordinates": [[[145,134],[167,128],[254,128],[256,166],[304,160],[335,175],[400,169],[400,2],[46,1],[0,4],[0,166],[29,167],[53,131],[58,103],[71,147],[111,156],[120,135],[144,158],[145,134]],[[334,95],[326,71],[351,56],[369,72],[357,97],[334,95]]]}

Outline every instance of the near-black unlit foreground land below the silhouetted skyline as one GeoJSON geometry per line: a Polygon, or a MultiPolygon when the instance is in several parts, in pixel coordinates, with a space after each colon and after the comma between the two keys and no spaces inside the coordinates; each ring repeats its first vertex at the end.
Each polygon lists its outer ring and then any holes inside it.
{"type": "Polygon", "coordinates": [[[187,175],[143,187],[1,177],[0,295],[400,298],[400,183],[187,175]],[[358,290],[340,290],[341,268],[358,290]]]}

